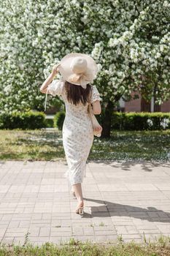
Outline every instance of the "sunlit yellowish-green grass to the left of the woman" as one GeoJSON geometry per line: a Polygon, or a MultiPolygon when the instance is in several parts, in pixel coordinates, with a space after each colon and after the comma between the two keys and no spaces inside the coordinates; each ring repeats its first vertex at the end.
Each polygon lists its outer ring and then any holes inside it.
{"type": "Polygon", "coordinates": [[[65,157],[61,132],[55,130],[0,130],[0,159],[56,160],[65,157]]]}

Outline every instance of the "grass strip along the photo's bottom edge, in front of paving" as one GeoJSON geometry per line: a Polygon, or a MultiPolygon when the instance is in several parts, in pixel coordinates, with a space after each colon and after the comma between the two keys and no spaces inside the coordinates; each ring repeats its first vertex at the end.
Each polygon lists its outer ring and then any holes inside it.
{"type": "Polygon", "coordinates": [[[81,242],[74,238],[66,244],[45,243],[36,246],[26,241],[23,245],[0,246],[0,256],[158,256],[170,255],[170,238],[161,236],[155,242],[124,243],[117,239],[115,244],[96,244],[90,241],[81,242]]]}

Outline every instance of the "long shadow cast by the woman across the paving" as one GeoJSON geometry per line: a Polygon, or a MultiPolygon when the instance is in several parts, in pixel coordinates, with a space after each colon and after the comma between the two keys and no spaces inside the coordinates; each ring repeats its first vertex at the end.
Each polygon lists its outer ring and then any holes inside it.
{"type": "Polygon", "coordinates": [[[83,197],[84,200],[102,204],[102,206],[88,206],[90,207],[91,214],[85,213],[84,218],[93,217],[134,217],[136,219],[145,219],[149,222],[169,222],[170,213],[159,210],[155,207],[142,208],[139,206],[128,206],[120,203],[112,203],[106,200],[96,200],[83,197]]]}

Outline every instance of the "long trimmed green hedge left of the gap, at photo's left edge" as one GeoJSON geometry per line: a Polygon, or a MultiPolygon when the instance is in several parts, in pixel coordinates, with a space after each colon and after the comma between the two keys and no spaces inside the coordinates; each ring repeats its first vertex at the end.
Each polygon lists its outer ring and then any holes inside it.
{"type": "Polygon", "coordinates": [[[46,127],[43,112],[15,112],[0,115],[1,129],[39,129],[46,127]]]}

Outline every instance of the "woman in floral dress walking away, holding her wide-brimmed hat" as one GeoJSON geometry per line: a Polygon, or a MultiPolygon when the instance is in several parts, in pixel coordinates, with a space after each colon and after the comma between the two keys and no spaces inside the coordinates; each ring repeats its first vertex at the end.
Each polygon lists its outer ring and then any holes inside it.
{"type": "MultiPolygon", "coordinates": [[[[72,194],[77,197],[77,214],[83,214],[83,197],[81,183],[86,176],[86,160],[93,145],[93,126],[88,113],[88,104],[92,104],[93,113],[101,113],[100,100],[96,86],[90,83],[96,78],[96,62],[82,53],[69,53],[42,84],[43,94],[58,95],[66,106],[63,122],[63,148],[66,154],[68,170],[64,174],[72,185],[72,194]],[[57,72],[61,79],[53,80],[57,72]]],[[[46,105],[46,101],[45,101],[46,105]]],[[[101,132],[102,128],[98,129],[101,132]]]]}

